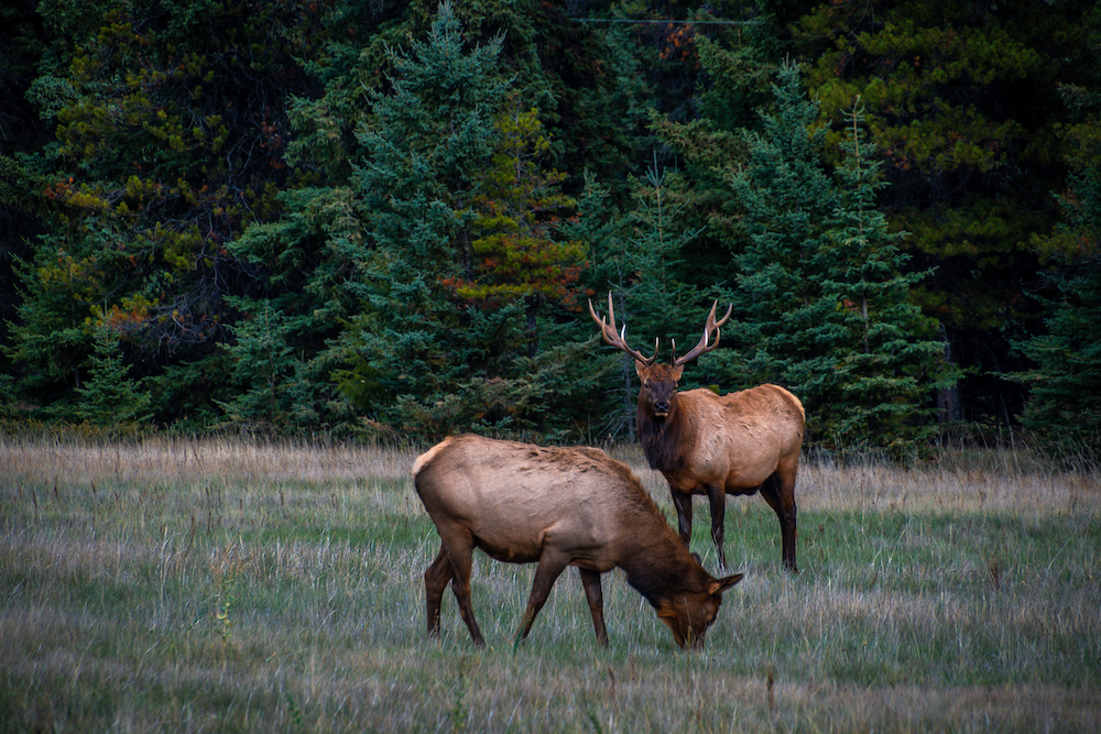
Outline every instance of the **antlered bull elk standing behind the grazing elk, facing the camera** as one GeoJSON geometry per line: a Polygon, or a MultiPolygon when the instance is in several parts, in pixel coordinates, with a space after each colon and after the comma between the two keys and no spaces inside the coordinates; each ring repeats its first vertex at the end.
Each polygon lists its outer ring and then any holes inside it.
{"type": "Polygon", "coordinates": [[[795,478],[806,421],[799,398],[771,384],[726,395],[706,387],[677,392],[684,365],[719,346],[719,327],[730,318],[733,306],[716,321],[717,306],[718,302],[711,305],[704,336],[693,349],[677,357],[673,342],[672,364],[655,363],[657,343],[653,357],[628,346],[626,326],[617,331],[610,293],[608,319],[597,315],[591,300],[589,314],[606,342],[634,358],[642,383],[635,414],[639,441],[650,468],[668,480],[685,545],[691,537],[691,497],[706,494],[711,505],[711,539],[726,568],[726,495],[760,492],[780,518],[784,565],[797,573],[795,478]]]}

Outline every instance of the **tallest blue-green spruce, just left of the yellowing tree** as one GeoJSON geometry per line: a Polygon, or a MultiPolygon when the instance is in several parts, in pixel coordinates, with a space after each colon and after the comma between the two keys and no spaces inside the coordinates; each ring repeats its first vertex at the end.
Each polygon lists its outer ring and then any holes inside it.
{"type": "Polygon", "coordinates": [[[370,95],[373,121],[357,135],[364,239],[344,254],[359,272],[348,291],[361,314],[344,338],[352,368],[339,380],[369,417],[406,430],[446,434],[464,419],[459,384],[471,365],[492,370],[476,330],[519,338],[444,285],[472,275],[478,174],[508,90],[499,53],[500,39],[468,52],[442,4],[427,41],[392,52],[391,90],[370,95]]]}

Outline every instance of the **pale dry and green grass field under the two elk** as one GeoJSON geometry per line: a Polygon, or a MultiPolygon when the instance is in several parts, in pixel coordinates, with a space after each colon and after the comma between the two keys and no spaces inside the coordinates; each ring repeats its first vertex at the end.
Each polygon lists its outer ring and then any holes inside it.
{"type": "MultiPolygon", "coordinates": [[[[664,480],[631,463],[675,521],[664,480]]],[[[445,596],[413,451],[0,437],[0,730],[1097,732],[1101,483],[1009,451],[914,470],[805,462],[799,566],[731,499],[728,592],[677,648],[620,572],[599,649],[564,574],[476,559],[476,650],[445,596]]],[[[693,549],[712,572],[708,512],[693,549]]]]}

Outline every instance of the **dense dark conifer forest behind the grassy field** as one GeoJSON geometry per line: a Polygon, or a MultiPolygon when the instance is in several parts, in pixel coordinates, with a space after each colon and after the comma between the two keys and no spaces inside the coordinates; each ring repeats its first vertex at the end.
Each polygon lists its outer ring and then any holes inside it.
{"type": "Polygon", "coordinates": [[[1101,448],[1101,2],[12,0],[0,429],[1101,448]]]}

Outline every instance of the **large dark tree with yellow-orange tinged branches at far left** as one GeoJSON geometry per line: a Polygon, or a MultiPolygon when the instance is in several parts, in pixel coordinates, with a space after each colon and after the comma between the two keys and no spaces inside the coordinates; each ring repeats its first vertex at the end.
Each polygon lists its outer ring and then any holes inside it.
{"type": "MultiPolygon", "coordinates": [[[[55,142],[25,169],[47,233],[20,273],[9,353],[36,399],[73,399],[107,322],[139,376],[226,337],[226,243],[276,212],[282,100],[310,17],[285,4],[44,3],[56,36],[28,99],[55,142]],[[140,359],[138,359],[140,358],[140,359]]],[[[159,413],[179,417],[171,406],[159,413]]]]}

